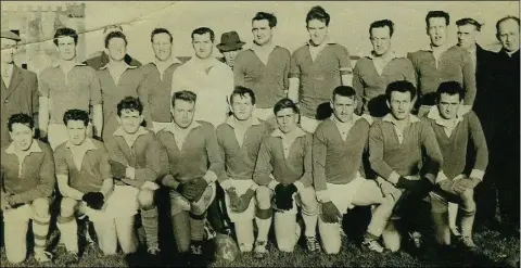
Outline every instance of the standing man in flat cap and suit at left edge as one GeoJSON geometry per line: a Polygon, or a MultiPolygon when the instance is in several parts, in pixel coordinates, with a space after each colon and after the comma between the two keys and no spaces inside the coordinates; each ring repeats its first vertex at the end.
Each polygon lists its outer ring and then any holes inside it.
{"type": "Polygon", "coordinates": [[[36,74],[23,69],[14,64],[16,44],[20,36],[11,30],[1,33],[1,76],[2,85],[0,90],[0,145],[10,143],[8,119],[13,114],[25,113],[31,116],[35,122],[38,116],[38,79],[36,74]]]}

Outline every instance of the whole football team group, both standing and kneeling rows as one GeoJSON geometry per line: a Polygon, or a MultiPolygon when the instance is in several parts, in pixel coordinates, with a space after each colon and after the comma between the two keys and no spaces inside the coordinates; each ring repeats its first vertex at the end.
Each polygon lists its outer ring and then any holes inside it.
{"type": "Polygon", "coordinates": [[[170,33],[155,28],[145,65],[127,54],[118,26],[82,63],[78,33],[59,28],[59,60],[38,77],[13,63],[20,36],[2,31],[8,260],[26,259],[31,222],[35,259],[52,261],[54,204],[67,264],[79,260],[84,221],[105,255],[119,245],[130,261],[143,244],[154,264],[169,254],[158,243],[162,215],[186,264],[202,259],[211,229],[255,258],[269,255],[271,227],[281,252],[304,235],[307,251],[338,254],[343,215],[355,206],[371,207],[363,250],[420,251],[431,233],[440,248],[457,238],[474,250],[474,218],[493,226],[496,190],[501,230],[519,235],[518,17],[497,22],[503,48],[491,52],[475,43],[480,22],[457,21],[449,46],[449,14],[430,11],[430,46],[406,55],[393,50],[393,22],[376,21],[372,51],[354,67],[328,37],[327,11],[312,8],[305,23],[309,40],[290,53],[272,41],[276,16],[258,12],[251,48],[223,34],[223,61],[214,31],[196,28],[186,63],[173,55],[170,33]]]}

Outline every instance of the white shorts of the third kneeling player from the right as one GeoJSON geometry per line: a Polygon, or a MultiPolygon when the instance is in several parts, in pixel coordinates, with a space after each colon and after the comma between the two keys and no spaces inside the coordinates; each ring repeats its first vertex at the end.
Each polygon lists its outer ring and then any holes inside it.
{"type": "Polygon", "coordinates": [[[346,214],[347,209],[354,207],[352,204],[353,197],[355,197],[355,194],[365,181],[366,179],[358,175],[347,184],[327,183],[331,202],[339,208],[340,213],[346,214]]]}

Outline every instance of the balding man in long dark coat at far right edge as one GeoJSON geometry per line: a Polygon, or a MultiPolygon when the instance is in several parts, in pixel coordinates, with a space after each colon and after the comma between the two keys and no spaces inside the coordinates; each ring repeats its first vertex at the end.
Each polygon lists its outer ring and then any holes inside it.
{"type": "MultiPolygon", "coordinates": [[[[494,93],[490,105],[494,113],[494,140],[491,142],[501,226],[505,234],[519,237],[519,17],[506,16],[496,24],[496,37],[503,48],[497,53],[494,93]]],[[[491,111],[488,111],[491,113],[491,111]]]]}

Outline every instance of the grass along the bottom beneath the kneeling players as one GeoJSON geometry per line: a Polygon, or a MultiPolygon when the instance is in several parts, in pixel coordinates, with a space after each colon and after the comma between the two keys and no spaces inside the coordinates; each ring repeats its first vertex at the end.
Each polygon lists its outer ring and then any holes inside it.
{"type": "MultiPolygon", "coordinates": [[[[428,239],[428,242],[432,241],[428,239]]],[[[450,254],[440,255],[432,246],[421,257],[412,257],[405,251],[380,255],[376,253],[361,252],[353,242],[353,239],[343,238],[343,245],[339,255],[327,255],[321,253],[308,253],[302,244],[297,245],[293,253],[281,253],[275,244],[269,244],[269,257],[257,260],[251,254],[243,254],[234,261],[213,260],[209,267],[519,267],[519,238],[504,238],[497,231],[485,230],[474,235],[475,243],[480,250],[475,252],[461,251],[455,246],[450,254]]],[[[432,242],[431,242],[432,243],[432,242]]],[[[170,244],[170,243],[168,243],[170,244]]],[[[170,246],[168,246],[170,247],[170,246]]],[[[171,248],[171,247],[170,247],[171,248]]],[[[51,248],[52,250],[52,248],[51,248]]],[[[65,250],[55,246],[54,264],[49,266],[64,267],[63,257],[65,250]]],[[[164,250],[165,266],[177,266],[175,250],[164,250]]],[[[5,251],[1,248],[2,267],[38,267],[33,254],[28,259],[18,265],[7,263],[5,251]]],[[[103,256],[97,245],[90,244],[85,247],[80,263],[77,267],[125,267],[123,254],[116,256],[103,256]]]]}

